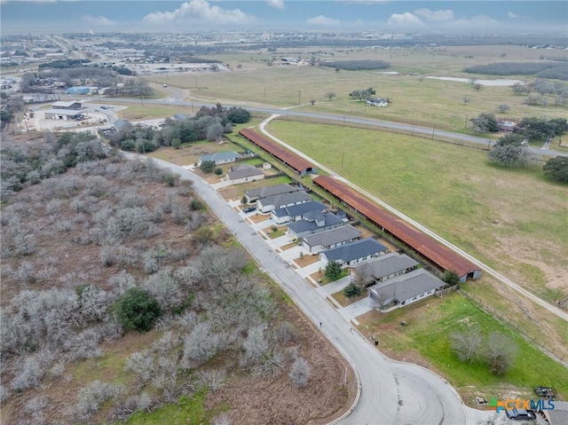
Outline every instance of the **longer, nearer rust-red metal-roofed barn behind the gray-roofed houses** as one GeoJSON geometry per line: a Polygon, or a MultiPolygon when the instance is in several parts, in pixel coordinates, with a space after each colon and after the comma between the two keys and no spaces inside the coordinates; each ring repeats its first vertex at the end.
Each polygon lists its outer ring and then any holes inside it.
{"type": "Polygon", "coordinates": [[[388,232],[404,242],[415,252],[429,260],[430,263],[438,266],[443,272],[453,270],[458,273],[462,281],[467,278],[477,279],[481,276],[481,269],[475,264],[470,263],[451,249],[440,245],[425,233],[404,223],[397,216],[375,205],[347,185],[327,176],[314,177],[313,182],[335,195],[336,198],[360,215],[367,217],[381,227],[384,232],[388,232]]]}

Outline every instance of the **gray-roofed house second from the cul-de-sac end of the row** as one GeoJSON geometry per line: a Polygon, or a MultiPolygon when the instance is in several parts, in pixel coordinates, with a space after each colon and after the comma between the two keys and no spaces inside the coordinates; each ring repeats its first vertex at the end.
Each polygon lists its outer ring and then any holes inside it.
{"type": "Polygon", "coordinates": [[[367,283],[377,284],[407,272],[412,272],[419,265],[420,263],[406,256],[406,254],[390,252],[368,261],[366,264],[355,267],[355,272],[363,277],[367,283]]]}

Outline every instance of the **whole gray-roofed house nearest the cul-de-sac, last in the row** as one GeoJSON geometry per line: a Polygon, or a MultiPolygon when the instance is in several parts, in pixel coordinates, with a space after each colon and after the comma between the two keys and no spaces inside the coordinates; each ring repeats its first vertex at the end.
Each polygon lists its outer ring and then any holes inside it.
{"type": "Polygon", "coordinates": [[[394,304],[398,307],[415,303],[434,295],[446,285],[442,280],[424,269],[414,270],[386,282],[368,287],[368,295],[379,310],[394,304]]]}

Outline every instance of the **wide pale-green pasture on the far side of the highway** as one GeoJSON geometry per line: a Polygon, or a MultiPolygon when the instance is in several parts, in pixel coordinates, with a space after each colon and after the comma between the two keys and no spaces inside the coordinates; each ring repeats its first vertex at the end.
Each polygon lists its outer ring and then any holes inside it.
{"type": "MultiPolygon", "coordinates": [[[[313,49],[312,49],[313,50],[313,49]]],[[[554,51],[554,54],[565,54],[554,51]]],[[[552,55],[553,53],[548,53],[552,55]]],[[[542,51],[521,46],[462,46],[444,48],[407,48],[391,50],[308,50],[278,51],[274,57],[293,56],[319,60],[380,59],[390,62],[385,75],[376,71],[340,71],[318,66],[267,66],[271,55],[266,52],[243,52],[241,55],[211,56],[232,65],[226,73],[192,73],[150,77],[153,82],[165,83],[189,90],[190,98],[211,102],[251,102],[256,105],[295,107],[299,110],[328,112],[407,122],[417,126],[470,132],[469,119],[480,113],[520,119],[524,116],[564,117],[566,107],[553,106],[548,96],[547,107],[526,106],[526,96],[516,96],[506,86],[484,86],[476,91],[470,83],[446,82],[424,78],[427,75],[457,76],[477,79],[496,79],[491,75],[472,75],[462,69],[477,64],[504,61],[540,60],[542,51]],[[503,56],[504,55],[504,56],[503,56]],[[226,60],[225,60],[226,59],[226,60]],[[239,60],[241,59],[241,60],[239,60]],[[235,62],[241,65],[236,68],[235,62]],[[441,70],[441,71],[440,71],[441,70]],[[366,106],[353,100],[349,93],[372,87],[376,97],[390,98],[388,107],[366,106]],[[329,100],[327,92],[335,92],[329,100]],[[464,98],[469,98],[464,104],[464,98]],[[315,104],[312,105],[312,100],[315,104]],[[508,104],[507,114],[498,114],[497,107],[508,104]]],[[[544,59],[544,58],[543,58],[544,59]]],[[[508,79],[530,82],[533,77],[510,75],[508,79]]]]}

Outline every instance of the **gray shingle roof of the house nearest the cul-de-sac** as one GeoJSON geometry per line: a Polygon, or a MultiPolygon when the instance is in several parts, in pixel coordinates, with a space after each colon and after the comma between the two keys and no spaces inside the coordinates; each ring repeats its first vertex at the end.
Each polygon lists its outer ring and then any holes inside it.
{"type": "Polygon", "coordinates": [[[444,287],[442,280],[424,269],[418,269],[368,287],[368,290],[384,300],[394,297],[398,301],[406,301],[438,287],[444,287]]]}

